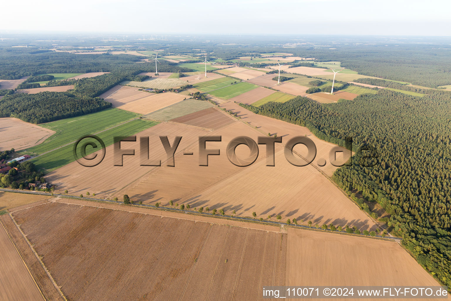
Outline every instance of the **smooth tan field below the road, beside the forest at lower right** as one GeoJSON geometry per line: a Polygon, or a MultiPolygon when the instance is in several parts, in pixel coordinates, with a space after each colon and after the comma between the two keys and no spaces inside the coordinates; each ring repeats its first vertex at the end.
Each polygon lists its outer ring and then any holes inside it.
{"type": "Polygon", "coordinates": [[[289,228],[287,249],[290,286],[439,286],[393,241],[289,228]]]}

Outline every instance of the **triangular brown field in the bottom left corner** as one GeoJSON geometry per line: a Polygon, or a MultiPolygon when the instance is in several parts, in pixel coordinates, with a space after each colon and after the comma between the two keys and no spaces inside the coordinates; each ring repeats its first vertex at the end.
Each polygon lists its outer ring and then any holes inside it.
{"type": "Polygon", "coordinates": [[[0,254],[0,300],[44,301],[3,223],[0,225],[0,254]]]}

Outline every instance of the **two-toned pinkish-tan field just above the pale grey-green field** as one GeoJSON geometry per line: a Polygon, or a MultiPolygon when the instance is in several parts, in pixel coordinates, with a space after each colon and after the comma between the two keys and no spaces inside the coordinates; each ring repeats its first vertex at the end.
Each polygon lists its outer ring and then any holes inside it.
{"type": "Polygon", "coordinates": [[[121,88],[115,89],[112,93],[110,93],[108,97],[105,97],[104,100],[111,102],[113,107],[117,107],[122,110],[127,110],[138,114],[149,114],[153,111],[180,102],[186,98],[185,95],[172,92],[156,94],[138,90],[139,88],[121,86],[121,88]]]}

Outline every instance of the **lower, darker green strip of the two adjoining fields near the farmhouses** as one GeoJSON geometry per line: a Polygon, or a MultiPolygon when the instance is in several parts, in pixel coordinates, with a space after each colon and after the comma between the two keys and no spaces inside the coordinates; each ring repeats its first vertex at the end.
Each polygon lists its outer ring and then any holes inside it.
{"type": "MultiPolygon", "coordinates": [[[[156,124],[158,124],[158,122],[151,120],[132,120],[124,125],[120,125],[113,129],[97,134],[97,136],[103,140],[105,146],[107,147],[113,144],[113,139],[115,136],[131,136],[156,124]]],[[[89,139],[83,139],[83,143],[84,142],[89,142],[89,139]]],[[[95,139],[92,139],[92,142],[99,145],[99,143],[95,139]]],[[[45,173],[54,171],[57,168],[63,167],[64,165],[75,161],[73,148],[74,144],[69,144],[62,148],[58,148],[53,152],[46,153],[40,157],[37,157],[36,159],[32,159],[31,161],[36,165],[37,170],[43,170],[45,173]]],[[[86,154],[88,155],[98,150],[99,148],[92,148],[91,146],[88,146],[86,148],[86,154]]]]}

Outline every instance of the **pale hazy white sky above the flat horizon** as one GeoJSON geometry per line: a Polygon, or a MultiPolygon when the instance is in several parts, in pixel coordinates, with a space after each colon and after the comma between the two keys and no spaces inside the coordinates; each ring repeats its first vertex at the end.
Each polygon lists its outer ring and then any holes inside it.
{"type": "Polygon", "coordinates": [[[5,0],[0,32],[451,36],[451,0],[5,0]]]}

